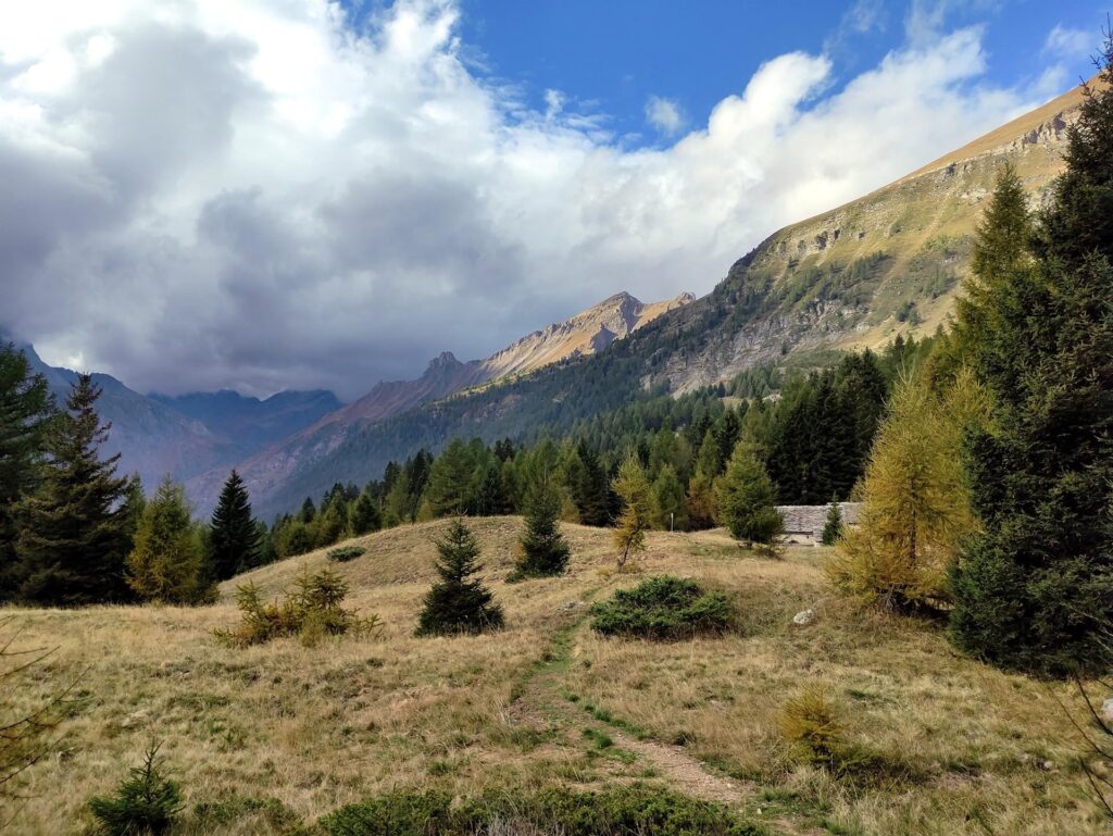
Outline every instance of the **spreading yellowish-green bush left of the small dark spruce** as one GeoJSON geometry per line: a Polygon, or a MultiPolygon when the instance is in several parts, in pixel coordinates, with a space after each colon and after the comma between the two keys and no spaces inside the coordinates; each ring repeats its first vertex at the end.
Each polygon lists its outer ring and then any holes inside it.
{"type": "Polygon", "coordinates": [[[312,645],[325,636],[377,632],[382,627],[377,616],[361,618],[355,610],[341,607],[347,591],[347,583],[328,569],[315,574],[304,570],[293,590],[270,602],[263,601],[258,587],[247,583],[236,589],[243,613],[239,626],[215,635],[225,643],[247,647],[289,636],[312,645]]]}

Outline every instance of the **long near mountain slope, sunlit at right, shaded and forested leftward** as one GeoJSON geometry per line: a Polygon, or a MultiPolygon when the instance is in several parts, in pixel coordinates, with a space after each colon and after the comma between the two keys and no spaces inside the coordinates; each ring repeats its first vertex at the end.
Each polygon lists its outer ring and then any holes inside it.
{"type": "Polygon", "coordinates": [[[934,331],[954,307],[1001,166],[1014,164],[1038,200],[1061,170],[1081,100],[1071,90],[889,186],[781,229],[709,295],[607,351],[346,427],[327,449],[287,462],[280,480],[249,479],[253,496],[265,512],[289,510],[337,480],[377,478],[387,461],[453,436],[567,431],[647,392],[682,392],[761,362],[934,331]]]}

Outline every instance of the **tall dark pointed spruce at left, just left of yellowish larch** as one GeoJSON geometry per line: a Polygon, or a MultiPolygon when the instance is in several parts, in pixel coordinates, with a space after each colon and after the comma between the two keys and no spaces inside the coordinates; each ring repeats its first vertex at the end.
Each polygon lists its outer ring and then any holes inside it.
{"type": "Polygon", "coordinates": [[[130,598],[124,580],[128,545],[120,510],[128,480],[119,455],[98,456],[110,429],[97,416],[100,389],[78,376],[53,424],[40,489],[17,506],[20,594],[37,603],[80,606],[130,598]]]}

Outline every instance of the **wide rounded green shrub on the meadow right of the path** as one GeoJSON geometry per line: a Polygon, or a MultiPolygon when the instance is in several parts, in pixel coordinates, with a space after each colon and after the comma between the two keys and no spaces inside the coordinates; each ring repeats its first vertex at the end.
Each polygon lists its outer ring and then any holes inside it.
{"type": "Polygon", "coordinates": [[[687,639],[730,629],[733,606],[722,592],[705,591],[689,579],[650,578],[618,590],[591,608],[591,627],[604,636],[687,639]]]}

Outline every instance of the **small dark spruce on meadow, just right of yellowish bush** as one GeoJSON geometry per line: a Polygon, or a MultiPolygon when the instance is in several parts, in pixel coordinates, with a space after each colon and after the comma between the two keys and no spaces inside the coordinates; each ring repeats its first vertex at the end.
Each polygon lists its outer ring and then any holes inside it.
{"type": "Polygon", "coordinates": [[[453,636],[498,630],[503,626],[502,607],[494,596],[473,578],[480,544],[459,519],[449,524],[444,540],[436,541],[440,580],[425,594],[416,636],[453,636]]]}

